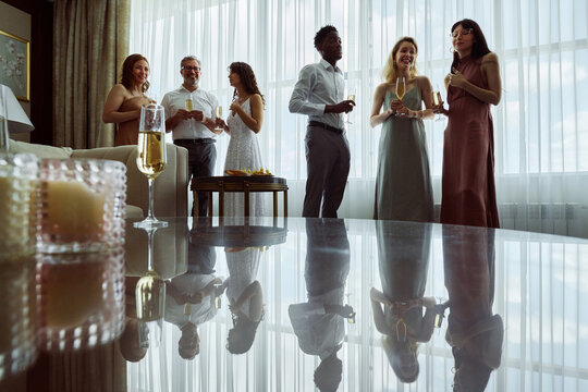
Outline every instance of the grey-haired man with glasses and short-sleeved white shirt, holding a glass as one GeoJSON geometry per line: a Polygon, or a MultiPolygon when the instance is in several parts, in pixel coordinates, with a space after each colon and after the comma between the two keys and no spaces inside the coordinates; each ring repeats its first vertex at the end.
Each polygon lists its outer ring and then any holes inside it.
{"type": "MultiPolygon", "coordinates": [[[[216,110],[218,100],[212,94],[198,88],[201,71],[200,61],[187,56],[180,62],[180,74],[184,83],[180,88],[163,96],[161,106],[166,108],[166,131],[172,132],[173,144],[188,150],[188,175],[210,176],[217,161],[215,148],[216,110]],[[192,102],[192,108],[187,102],[192,102]]],[[[198,216],[206,217],[208,194],[198,193],[198,216]]]]}

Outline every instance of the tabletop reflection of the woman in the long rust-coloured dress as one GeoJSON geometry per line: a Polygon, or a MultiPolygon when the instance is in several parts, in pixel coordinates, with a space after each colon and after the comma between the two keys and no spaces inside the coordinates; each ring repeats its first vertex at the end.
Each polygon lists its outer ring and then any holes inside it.
{"type": "Polygon", "coordinates": [[[500,366],[504,324],[492,314],[494,232],[443,228],[443,264],[450,315],[445,339],[455,359],[454,388],[483,391],[500,366]]]}

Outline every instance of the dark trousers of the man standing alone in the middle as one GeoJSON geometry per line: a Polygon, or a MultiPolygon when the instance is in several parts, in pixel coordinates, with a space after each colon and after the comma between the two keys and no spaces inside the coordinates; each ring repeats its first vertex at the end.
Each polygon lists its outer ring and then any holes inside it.
{"type": "Polygon", "coordinates": [[[303,217],[336,218],[350,174],[350,144],[344,134],[308,125],[306,130],[306,195],[303,217]]]}

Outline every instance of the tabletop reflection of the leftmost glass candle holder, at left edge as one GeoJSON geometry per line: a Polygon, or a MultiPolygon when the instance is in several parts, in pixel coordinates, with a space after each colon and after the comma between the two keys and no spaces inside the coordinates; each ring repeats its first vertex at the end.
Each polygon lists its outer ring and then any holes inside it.
{"type": "Polygon", "coordinates": [[[37,358],[35,258],[0,262],[0,384],[37,358]]]}

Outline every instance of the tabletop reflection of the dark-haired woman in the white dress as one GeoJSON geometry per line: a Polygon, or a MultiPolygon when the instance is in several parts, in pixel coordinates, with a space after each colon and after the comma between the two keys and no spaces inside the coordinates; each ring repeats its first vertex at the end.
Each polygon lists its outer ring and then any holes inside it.
{"type": "Polygon", "coordinates": [[[264,291],[255,279],[261,249],[256,247],[225,248],[229,278],[226,287],[233,328],[226,338],[226,350],[232,354],[249,351],[259,322],[264,318],[264,291]]]}

